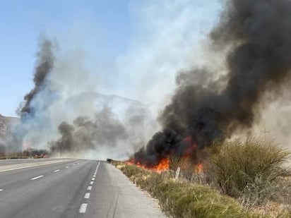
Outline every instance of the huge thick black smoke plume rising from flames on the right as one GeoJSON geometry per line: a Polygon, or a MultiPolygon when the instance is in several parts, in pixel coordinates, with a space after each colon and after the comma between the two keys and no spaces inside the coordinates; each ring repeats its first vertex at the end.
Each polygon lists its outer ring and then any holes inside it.
{"type": "Polygon", "coordinates": [[[172,102],[160,114],[164,130],[134,160],[157,164],[172,153],[201,149],[251,128],[263,95],[272,92],[274,97],[290,80],[290,15],[290,0],[226,1],[220,23],[210,32],[213,51],[228,49],[221,57],[226,74],[219,76],[207,66],[179,73],[172,102]]]}

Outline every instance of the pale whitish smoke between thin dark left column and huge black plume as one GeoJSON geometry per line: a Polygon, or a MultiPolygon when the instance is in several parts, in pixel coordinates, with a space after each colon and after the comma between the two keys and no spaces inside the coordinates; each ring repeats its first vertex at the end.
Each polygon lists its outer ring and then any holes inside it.
{"type": "Polygon", "coordinates": [[[35,116],[25,123],[25,131],[20,130],[25,132],[23,145],[45,148],[59,138],[61,122],[93,117],[109,107],[131,135],[130,140],[114,147],[100,145],[83,157],[129,157],[157,131],[155,117],[170,99],[177,71],[204,61],[201,42],[217,19],[219,8],[217,1],[133,1],[133,40],[110,66],[95,68],[99,65],[94,62],[99,60],[93,58],[94,51],[88,46],[83,49],[85,42],[78,42],[78,47],[64,42],[65,49],[70,47],[64,51],[59,41],[54,49],[54,68],[45,88],[32,101],[35,116]],[[138,108],[131,105],[133,101],[112,94],[143,102],[150,111],[145,113],[144,105],[138,108]]]}

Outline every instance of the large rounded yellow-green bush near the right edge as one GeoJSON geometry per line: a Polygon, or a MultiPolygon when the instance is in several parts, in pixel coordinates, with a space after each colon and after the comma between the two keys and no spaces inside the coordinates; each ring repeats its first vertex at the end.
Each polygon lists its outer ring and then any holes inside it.
{"type": "Polygon", "coordinates": [[[215,142],[209,171],[222,193],[261,203],[275,193],[276,181],[290,175],[283,164],[290,152],[256,138],[244,142],[215,142]]]}

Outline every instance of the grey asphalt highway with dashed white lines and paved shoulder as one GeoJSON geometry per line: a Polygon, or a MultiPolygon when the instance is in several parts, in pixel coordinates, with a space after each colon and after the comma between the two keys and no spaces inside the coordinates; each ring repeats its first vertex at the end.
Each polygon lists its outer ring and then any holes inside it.
{"type": "Polygon", "coordinates": [[[0,161],[0,217],[165,217],[111,164],[84,159],[0,161]],[[8,164],[10,162],[10,164],[8,164]]]}

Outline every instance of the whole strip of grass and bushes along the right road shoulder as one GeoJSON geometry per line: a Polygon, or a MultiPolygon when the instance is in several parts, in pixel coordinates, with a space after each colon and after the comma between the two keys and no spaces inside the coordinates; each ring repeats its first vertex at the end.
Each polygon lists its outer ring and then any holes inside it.
{"type": "Polygon", "coordinates": [[[179,157],[171,157],[170,170],[162,172],[112,164],[157,198],[170,217],[291,217],[290,151],[249,138],[216,141],[203,152],[202,169],[179,157]]]}

